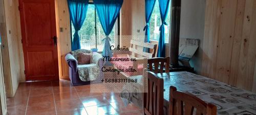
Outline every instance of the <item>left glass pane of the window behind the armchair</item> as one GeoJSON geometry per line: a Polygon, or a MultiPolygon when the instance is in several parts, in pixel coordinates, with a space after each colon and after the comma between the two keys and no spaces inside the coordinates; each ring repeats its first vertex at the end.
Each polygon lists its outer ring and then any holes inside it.
{"type": "MultiPolygon", "coordinates": [[[[80,36],[81,49],[91,50],[96,48],[95,40],[95,10],[94,5],[89,4],[87,10],[86,20],[83,22],[83,26],[78,32],[80,36]]],[[[72,38],[75,33],[74,26],[72,24],[72,38]]]]}

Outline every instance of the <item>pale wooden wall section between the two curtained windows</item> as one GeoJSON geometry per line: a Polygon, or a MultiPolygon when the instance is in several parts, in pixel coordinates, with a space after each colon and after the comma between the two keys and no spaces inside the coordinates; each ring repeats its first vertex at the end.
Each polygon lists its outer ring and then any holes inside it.
{"type": "MultiPolygon", "coordinates": [[[[131,39],[144,37],[143,28],[145,26],[145,1],[124,0],[121,16],[121,46],[130,47],[131,39]]],[[[141,39],[144,40],[144,39],[141,39]]]]}

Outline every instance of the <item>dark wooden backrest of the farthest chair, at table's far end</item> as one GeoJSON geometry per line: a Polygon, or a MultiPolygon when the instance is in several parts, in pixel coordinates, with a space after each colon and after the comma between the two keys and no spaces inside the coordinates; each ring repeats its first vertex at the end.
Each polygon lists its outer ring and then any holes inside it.
{"type": "Polygon", "coordinates": [[[169,72],[169,64],[170,64],[170,58],[166,57],[166,58],[151,58],[148,59],[147,62],[150,65],[150,71],[154,72],[155,74],[157,73],[163,73],[163,67],[165,65],[165,73],[169,72]],[[155,69],[153,69],[153,64],[155,66],[155,69]],[[160,65],[160,68],[159,68],[160,65]]]}

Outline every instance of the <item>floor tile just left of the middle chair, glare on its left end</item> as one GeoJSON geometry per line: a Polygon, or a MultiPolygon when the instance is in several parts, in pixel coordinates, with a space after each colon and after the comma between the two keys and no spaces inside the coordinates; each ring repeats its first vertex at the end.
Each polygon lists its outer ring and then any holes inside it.
{"type": "Polygon", "coordinates": [[[114,102],[114,103],[110,103],[110,104],[118,112],[129,112],[129,111],[140,110],[139,107],[135,106],[132,103],[128,104],[127,106],[125,106],[123,102],[114,102]]]}

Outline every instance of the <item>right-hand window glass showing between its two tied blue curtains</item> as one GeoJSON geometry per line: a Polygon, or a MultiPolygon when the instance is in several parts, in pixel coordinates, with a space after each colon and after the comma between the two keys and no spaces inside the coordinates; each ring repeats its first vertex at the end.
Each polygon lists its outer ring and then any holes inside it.
{"type": "MultiPolygon", "coordinates": [[[[170,2],[171,3],[171,2],[170,2]]],[[[166,24],[164,26],[165,28],[165,42],[169,41],[169,29],[170,29],[170,3],[169,3],[169,9],[168,9],[168,13],[167,13],[167,17],[165,19],[166,24]]],[[[159,35],[160,35],[160,31],[159,28],[161,26],[161,15],[160,15],[160,9],[159,9],[159,3],[158,0],[156,0],[155,3],[155,7],[153,10],[153,13],[151,15],[151,20],[150,20],[150,40],[155,40],[158,41],[159,40],[159,35]]]]}

